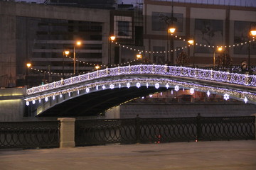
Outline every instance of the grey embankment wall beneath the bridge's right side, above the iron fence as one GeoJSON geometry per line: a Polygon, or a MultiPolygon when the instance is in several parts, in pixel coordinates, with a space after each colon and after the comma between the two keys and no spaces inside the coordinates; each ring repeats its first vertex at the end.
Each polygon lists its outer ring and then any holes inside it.
{"type": "Polygon", "coordinates": [[[125,103],[119,106],[120,118],[183,118],[202,116],[248,116],[256,106],[245,103],[125,103]]]}

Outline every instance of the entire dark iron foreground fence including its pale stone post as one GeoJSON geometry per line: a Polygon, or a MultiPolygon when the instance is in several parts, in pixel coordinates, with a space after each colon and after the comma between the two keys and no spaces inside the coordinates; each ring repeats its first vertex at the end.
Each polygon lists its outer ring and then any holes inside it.
{"type": "Polygon", "coordinates": [[[255,140],[255,116],[0,123],[0,149],[255,140]]]}

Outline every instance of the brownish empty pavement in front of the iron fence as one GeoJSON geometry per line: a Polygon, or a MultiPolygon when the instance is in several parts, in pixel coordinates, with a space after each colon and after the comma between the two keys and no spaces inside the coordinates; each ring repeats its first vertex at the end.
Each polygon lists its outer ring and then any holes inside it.
{"type": "Polygon", "coordinates": [[[255,170],[256,140],[0,149],[0,169],[255,170]]]}

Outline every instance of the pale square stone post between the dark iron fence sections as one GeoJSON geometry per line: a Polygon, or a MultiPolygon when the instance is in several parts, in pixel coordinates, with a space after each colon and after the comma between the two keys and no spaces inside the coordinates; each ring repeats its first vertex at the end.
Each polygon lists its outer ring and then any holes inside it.
{"type": "Polygon", "coordinates": [[[75,147],[75,118],[58,118],[60,120],[60,148],[75,147]]]}

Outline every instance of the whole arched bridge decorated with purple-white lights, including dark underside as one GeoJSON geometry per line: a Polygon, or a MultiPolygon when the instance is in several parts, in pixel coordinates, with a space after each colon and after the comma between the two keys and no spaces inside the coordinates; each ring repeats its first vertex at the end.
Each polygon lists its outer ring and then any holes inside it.
{"type": "Polygon", "coordinates": [[[28,110],[38,116],[97,115],[160,91],[220,94],[256,104],[256,76],[210,69],[138,64],[106,68],[26,91],[28,110]]]}

